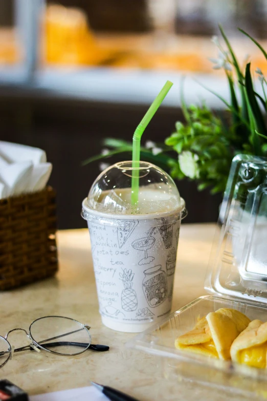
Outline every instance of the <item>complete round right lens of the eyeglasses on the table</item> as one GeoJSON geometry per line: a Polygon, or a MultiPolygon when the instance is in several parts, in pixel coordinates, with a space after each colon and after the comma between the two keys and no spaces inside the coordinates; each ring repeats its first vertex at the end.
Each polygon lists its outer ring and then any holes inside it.
{"type": "Polygon", "coordinates": [[[81,323],[61,316],[35,320],[30,334],[42,348],[64,355],[79,354],[91,344],[90,333],[81,323]]]}

